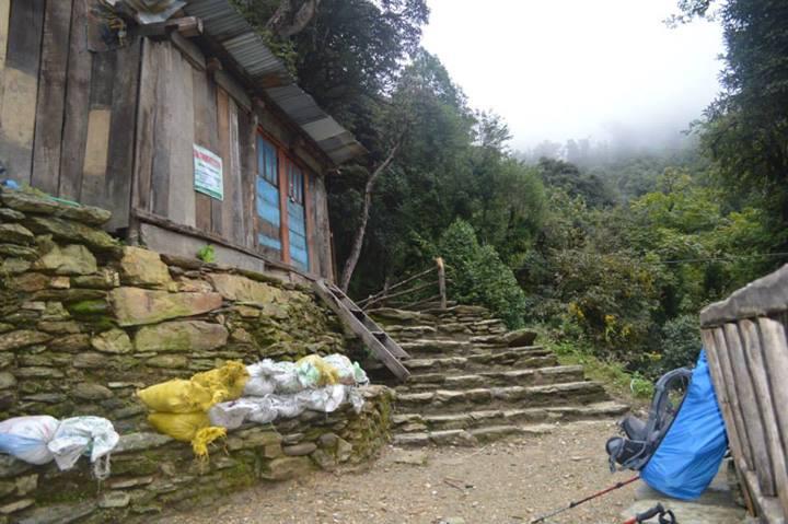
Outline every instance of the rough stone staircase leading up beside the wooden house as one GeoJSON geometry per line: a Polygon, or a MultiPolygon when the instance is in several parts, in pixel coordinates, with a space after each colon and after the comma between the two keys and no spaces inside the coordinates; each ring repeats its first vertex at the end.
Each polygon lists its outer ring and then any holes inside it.
{"type": "Polygon", "coordinates": [[[587,381],[582,366],[559,365],[535,346],[535,333],[509,331],[484,307],[371,314],[410,354],[410,379],[395,385],[397,445],[475,445],[628,409],[587,381]]]}

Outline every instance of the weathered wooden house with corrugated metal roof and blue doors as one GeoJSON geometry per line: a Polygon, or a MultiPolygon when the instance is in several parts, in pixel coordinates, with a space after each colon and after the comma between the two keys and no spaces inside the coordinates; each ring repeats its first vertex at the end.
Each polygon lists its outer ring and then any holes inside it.
{"type": "Polygon", "coordinates": [[[332,278],[325,177],[363,148],[230,0],[169,3],[0,0],[2,177],[161,253],[332,278]]]}

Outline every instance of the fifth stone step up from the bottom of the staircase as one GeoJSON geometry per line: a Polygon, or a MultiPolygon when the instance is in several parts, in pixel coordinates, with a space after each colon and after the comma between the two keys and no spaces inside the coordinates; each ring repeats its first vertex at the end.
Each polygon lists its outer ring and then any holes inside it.
{"type": "Polygon", "coordinates": [[[479,351],[463,357],[410,358],[403,363],[414,375],[454,371],[499,371],[512,368],[546,368],[558,359],[544,348],[514,348],[507,351],[479,351]]]}

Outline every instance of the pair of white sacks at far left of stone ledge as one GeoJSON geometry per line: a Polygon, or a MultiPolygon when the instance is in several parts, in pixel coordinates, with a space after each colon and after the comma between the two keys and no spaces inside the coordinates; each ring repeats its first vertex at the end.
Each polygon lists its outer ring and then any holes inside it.
{"type": "Polygon", "coordinates": [[[101,417],[58,420],[38,415],[0,422],[0,453],[36,465],[55,461],[61,470],[85,455],[100,480],[109,476],[109,455],[119,439],[112,422],[101,417]]]}

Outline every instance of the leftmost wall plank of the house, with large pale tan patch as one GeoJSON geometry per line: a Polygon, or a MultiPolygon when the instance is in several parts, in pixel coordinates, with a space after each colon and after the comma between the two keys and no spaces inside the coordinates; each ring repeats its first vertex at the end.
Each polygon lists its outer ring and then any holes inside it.
{"type": "Polygon", "coordinates": [[[44,0],[13,2],[10,12],[0,112],[0,161],[9,175],[30,183],[33,166],[44,0]]]}

